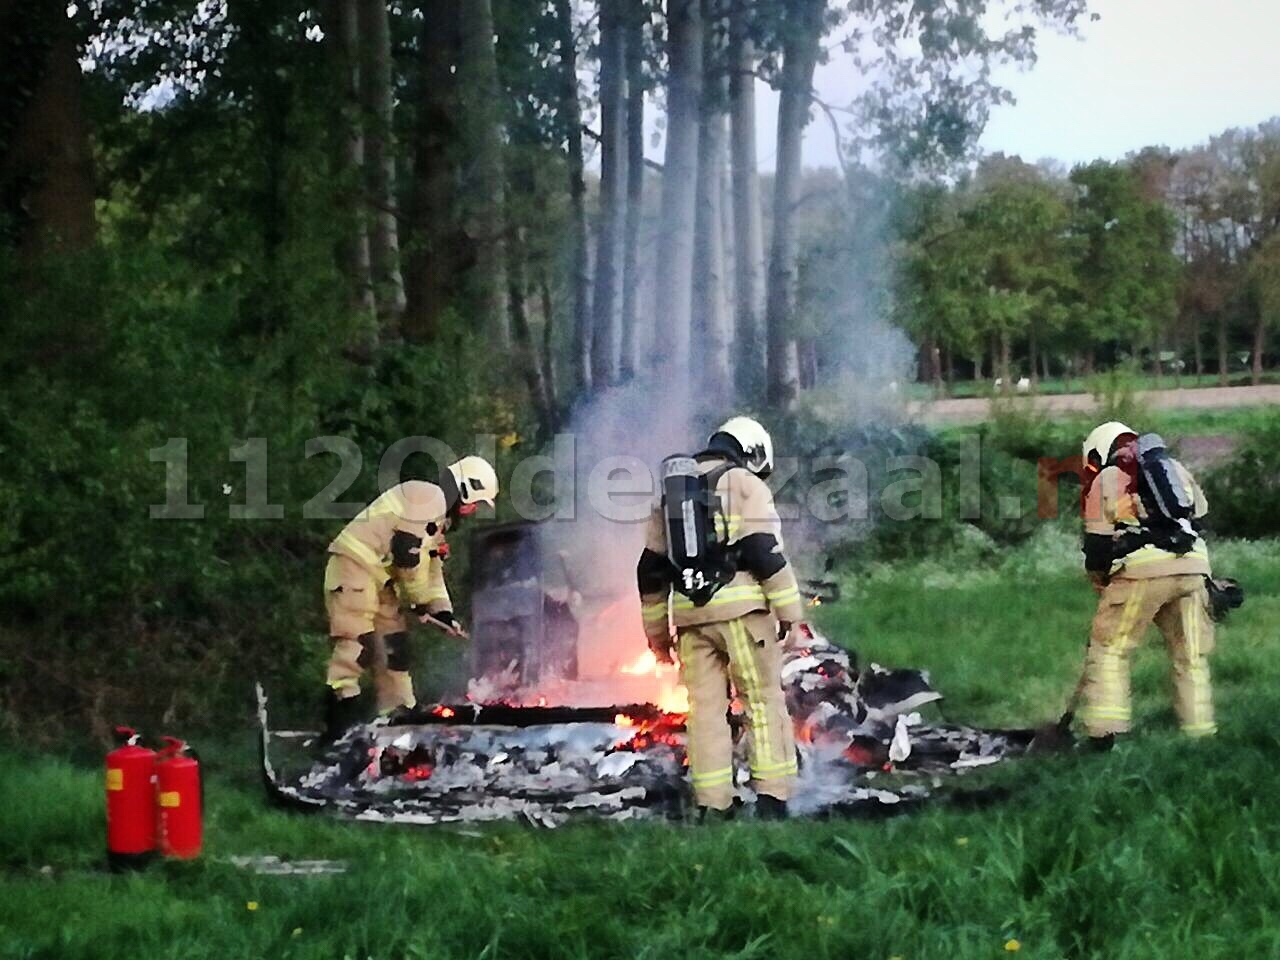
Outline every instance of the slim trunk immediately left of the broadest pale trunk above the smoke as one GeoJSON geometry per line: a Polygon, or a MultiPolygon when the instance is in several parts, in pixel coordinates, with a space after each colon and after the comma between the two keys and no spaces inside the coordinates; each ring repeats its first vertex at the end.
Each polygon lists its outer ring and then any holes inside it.
{"type": "Polygon", "coordinates": [[[648,0],[627,4],[627,215],[622,237],[622,360],[623,381],[640,370],[640,227],[644,220],[644,76],[645,37],[650,22],[648,0]]]}

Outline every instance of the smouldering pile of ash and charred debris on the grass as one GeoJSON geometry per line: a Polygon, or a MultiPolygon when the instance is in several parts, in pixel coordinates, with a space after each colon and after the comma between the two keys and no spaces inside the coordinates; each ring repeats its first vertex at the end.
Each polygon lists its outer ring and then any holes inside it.
{"type": "MultiPolygon", "coordinates": [[[[924,722],[941,699],[920,671],[859,671],[820,636],[787,654],[783,685],[800,751],[794,817],[890,814],[910,809],[947,777],[1021,753],[1029,732],[924,722]]],[[[689,814],[684,716],[649,704],[419,708],[352,730],[301,776],[271,764],[260,703],[264,771],[280,803],[362,820],[449,823],[524,818],[554,827],[575,817],[689,814]]],[[[740,705],[731,709],[739,795],[746,778],[740,705]]]]}

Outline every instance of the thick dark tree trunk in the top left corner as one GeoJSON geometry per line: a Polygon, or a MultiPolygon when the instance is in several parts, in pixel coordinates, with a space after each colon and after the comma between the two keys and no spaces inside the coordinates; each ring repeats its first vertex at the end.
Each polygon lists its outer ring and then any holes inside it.
{"type": "Polygon", "coordinates": [[[93,155],[67,4],[0,0],[0,229],[23,260],[93,243],[93,155]],[[8,223],[5,223],[8,220],[8,223]]]}

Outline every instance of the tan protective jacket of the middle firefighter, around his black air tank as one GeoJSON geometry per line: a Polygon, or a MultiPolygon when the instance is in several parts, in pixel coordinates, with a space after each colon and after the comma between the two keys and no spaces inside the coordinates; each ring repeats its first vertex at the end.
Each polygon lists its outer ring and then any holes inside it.
{"type": "MultiPolygon", "coordinates": [[[[724,465],[719,457],[700,460],[698,468],[701,474],[724,465]]],[[[796,584],[795,571],[786,559],[782,549],[782,522],[773,506],[773,494],[768,485],[755,476],[750,470],[733,467],[724,471],[716,484],[716,494],[723,504],[723,520],[727,530],[719,531],[727,536],[730,548],[742,544],[742,541],[760,534],[767,538],[764,543],[772,547],[773,559],[769,566],[777,566],[777,571],[765,577],[758,577],[750,570],[740,568],[737,575],[728,584],[722,586],[714,596],[703,607],[695,607],[692,600],[681,593],[675,591],[669,581],[658,586],[653,577],[640,580],[640,607],[644,618],[645,635],[650,639],[666,637],[669,632],[669,623],[677,630],[685,626],[699,623],[719,623],[748,613],[759,611],[772,611],[781,621],[803,620],[800,605],[800,588],[796,584]],[[648,582],[646,582],[648,580],[648,582]],[[648,589],[646,589],[648,588],[648,589]]],[[[762,540],[758,538],[755,544],[762,540]]],[[[662,503],[654,504],[649,516],[649,527],[645,532],[645,553],[641,556],[637,573],[646,562],[652,564],[666,563],[667,557],[667,525],[662,503]]],[[[669,567],[669,563],[667,564],[669,567]]]]}

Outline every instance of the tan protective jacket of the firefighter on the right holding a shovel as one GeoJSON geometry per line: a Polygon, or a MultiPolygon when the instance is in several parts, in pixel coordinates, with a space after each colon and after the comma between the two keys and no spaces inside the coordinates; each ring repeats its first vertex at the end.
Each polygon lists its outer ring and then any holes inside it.
{"type": "MultiPolygon", "coordinates": [[[[1208,513],[1204,492],[1192,472],[1176,460],[1174,467],[1194,499],[1193,516],[1198,520],[1208,513]]],[[[1105,467],[1093,480],[1084,498],[1084,532],[1121,538],[1126,530],[1140,527],[1147,520],[1147,509],[1138,495],[1135,477],[1117,466],[1105,467]]],[[[1117,557],[1111,563],[1112,577],[1144,580],[1148,577],[1207,575],[1210,572],[1208,548],[1199,536],[1188,553],[1181,556],[1146,544],[1137,550],[1117,557]]]]}

